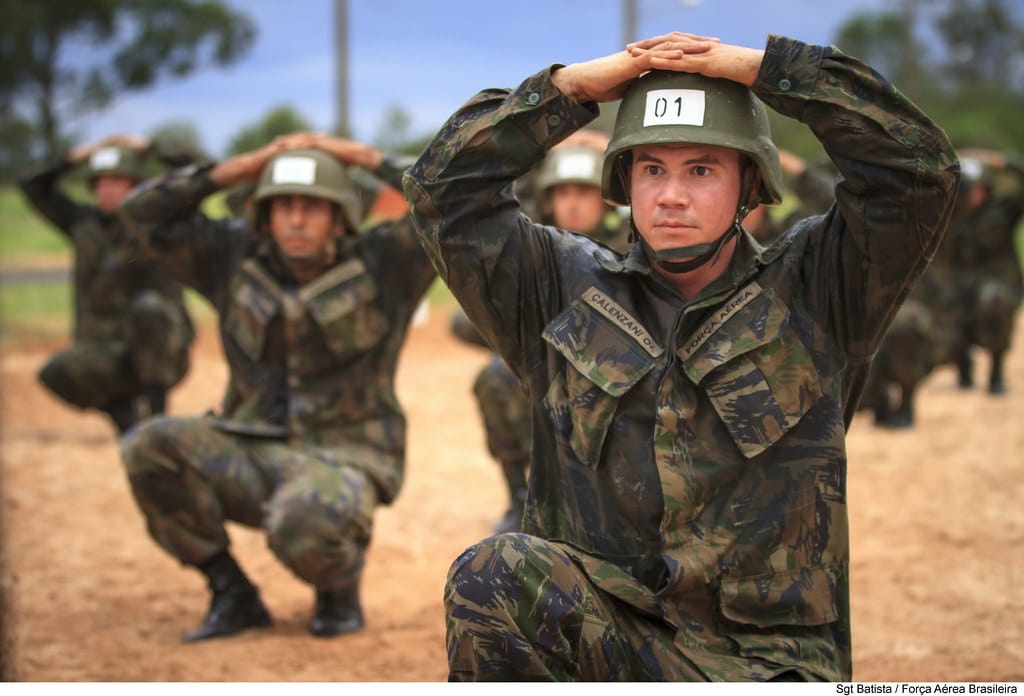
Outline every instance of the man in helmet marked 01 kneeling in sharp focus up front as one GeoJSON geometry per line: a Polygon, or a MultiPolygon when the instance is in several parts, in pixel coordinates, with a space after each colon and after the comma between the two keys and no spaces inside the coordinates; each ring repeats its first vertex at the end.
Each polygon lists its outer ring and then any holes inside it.
{"type": "Polygon", "coordinates": [[[888,82],[775,35],[655,37],[453,116],[406,195],[526,383],[534,442],[525,533],[450,570],[450,679],[850,681],[846,428],[956,179],[945,134],[888,82]],[[620,96],[602,188],[631,206],[625,257],[510,193],[620,96]],[[739,225],[780,195],[762,100],[843,174],[768,249],[739,225]]]}

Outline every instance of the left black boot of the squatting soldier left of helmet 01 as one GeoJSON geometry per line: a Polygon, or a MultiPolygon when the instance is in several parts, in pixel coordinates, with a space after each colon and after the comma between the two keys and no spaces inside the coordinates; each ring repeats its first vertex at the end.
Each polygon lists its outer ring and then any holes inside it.
{"type": "Polygon", "coordinates": [[[210,610],[203,625],[181,637],[182,643],[195,643],[218,636],[232,636],[246,628],[271,623],[270,614],[259,598],[259,591],[226,551],[200,566],[210,584],[210,610]]]}

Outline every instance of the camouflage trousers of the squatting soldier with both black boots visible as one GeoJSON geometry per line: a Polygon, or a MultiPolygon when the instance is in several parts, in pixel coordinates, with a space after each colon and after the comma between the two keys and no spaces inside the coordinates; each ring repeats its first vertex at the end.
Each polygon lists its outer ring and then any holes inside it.
{"type": "Polygon", "coordinates": [[[230,520],[262,527],[278,559],[317,590],[358,581],[377,490],[330,450],[158,417],[122,438],[121,453],[150,535],[181,563],[227,550],[230,520]]]}

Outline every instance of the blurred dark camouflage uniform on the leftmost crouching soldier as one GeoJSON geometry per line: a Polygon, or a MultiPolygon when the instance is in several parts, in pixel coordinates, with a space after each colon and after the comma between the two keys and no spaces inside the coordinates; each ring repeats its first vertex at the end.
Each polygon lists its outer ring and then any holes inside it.
{"type": "Polygon", "coordinates": [[[124,223],[60,189],[61,159],[20,181],[40,215],[72,244],[72,346],[40,373],[54,394],[108,410],[146,390],[168,390],[188,371],[195,338],[180,284],[133,240],[124,223]]]}

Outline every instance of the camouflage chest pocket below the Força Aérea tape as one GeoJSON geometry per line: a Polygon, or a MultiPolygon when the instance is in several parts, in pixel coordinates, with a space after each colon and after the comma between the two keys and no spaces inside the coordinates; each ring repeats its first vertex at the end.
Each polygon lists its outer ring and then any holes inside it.
{"type": "Polygon", "coordinates": [[[739,451],[752,458],[803,418],[821,397],[821,387],[810,353],[790,327],[788,307],[760,288],[744,291],[755,293],[752,299],[720,324],[706,323],[696,335],[707,338],[678,355],[739,451]]]}

